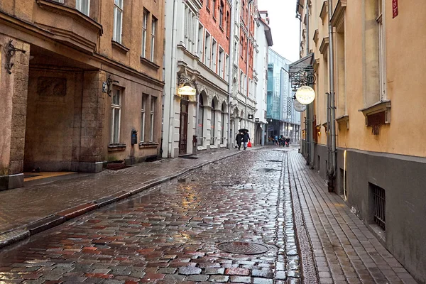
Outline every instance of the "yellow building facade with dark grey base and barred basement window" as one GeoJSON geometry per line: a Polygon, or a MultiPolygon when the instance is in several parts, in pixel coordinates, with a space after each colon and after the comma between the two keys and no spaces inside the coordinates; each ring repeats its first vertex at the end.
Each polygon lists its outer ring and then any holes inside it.
{"type": "Polygon", "coordinates": [[[312,56],[316,79],[312,116],[303,118],[304,130],[312,131],[308,162],[420,283],[426,282],[423,12],[426,5],[415,1],[297,0],[300,57],[312,56]]]}

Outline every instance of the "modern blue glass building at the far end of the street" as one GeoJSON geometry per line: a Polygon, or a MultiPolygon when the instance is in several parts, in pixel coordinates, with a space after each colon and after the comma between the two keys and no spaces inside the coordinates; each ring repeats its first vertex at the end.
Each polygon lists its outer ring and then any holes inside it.
{"type": "Polygon", "coordinates": [[[293,107],[293,92],[289,82],[290,61],[276,53],[268,52],[268,138],[290,137],[290,142],[299,140],[300,114],[293,107]]]}

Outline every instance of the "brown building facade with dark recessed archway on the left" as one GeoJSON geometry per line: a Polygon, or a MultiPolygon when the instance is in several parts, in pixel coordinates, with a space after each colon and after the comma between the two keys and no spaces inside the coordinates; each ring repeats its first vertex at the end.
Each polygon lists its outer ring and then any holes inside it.
{"type": "Polygon", "coordinates": [[[23,186],[27,170],[99,172],[159,154],[163,6],[0,2],[0,189],[23,186]]]}

